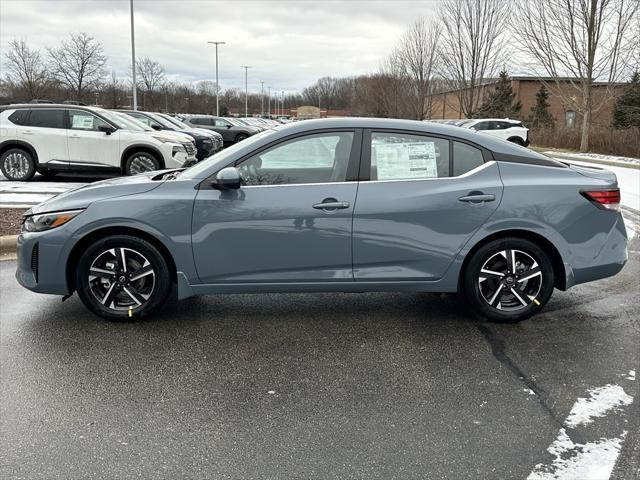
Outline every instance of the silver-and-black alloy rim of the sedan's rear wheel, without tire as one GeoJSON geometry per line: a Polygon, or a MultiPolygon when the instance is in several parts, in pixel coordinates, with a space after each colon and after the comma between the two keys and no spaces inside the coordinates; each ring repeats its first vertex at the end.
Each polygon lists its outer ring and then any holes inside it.
{"type": "Polygon", "coordinates": [[[484,262],[478,273],[480,295],[493,308],[516,312],[531,303],[539,305],[542,270],[538,262],[522,250],[501,250],[484,262]]]}

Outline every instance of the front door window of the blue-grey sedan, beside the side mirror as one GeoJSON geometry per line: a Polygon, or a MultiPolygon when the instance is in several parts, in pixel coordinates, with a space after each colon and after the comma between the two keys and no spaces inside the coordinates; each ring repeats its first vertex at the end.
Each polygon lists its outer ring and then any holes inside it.
{"type": "Polygon", "coordinates": [[[247,185],[344,182],[353,132],[332,132],[289,140],[254,155],[238,168],[247,185]]]}

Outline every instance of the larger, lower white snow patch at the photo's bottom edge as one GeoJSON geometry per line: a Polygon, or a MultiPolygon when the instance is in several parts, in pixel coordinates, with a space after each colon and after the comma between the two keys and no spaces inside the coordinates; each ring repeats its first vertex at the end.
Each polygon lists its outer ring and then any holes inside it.
{"type": "Polygon", "coordinates": [[[547,451],[555,458],[551,465],[539,463],[527,480],[603,480],[611,476],[627,435],[596,442],[574,443],[564,428],[547,451]]]}

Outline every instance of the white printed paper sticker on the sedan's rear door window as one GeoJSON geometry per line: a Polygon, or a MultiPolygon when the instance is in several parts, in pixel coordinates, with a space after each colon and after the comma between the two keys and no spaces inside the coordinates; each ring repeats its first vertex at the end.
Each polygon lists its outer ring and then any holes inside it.
{"type": "Polygon", "coordinates": [[[434,142],[378,143],[372,147],[378,180],[438,176],[434,142]]]}

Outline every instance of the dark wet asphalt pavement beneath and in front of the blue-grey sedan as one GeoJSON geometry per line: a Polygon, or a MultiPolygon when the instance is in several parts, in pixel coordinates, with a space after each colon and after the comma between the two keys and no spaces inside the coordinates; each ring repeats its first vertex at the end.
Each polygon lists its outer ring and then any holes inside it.
{"type": "Polygon", "coordinates": [[[516,325],[384,293],[210,296],[114,324],[1,262],[0,477],[583,479],[617,458],[633,478],[630,251],[516,325]]]}

